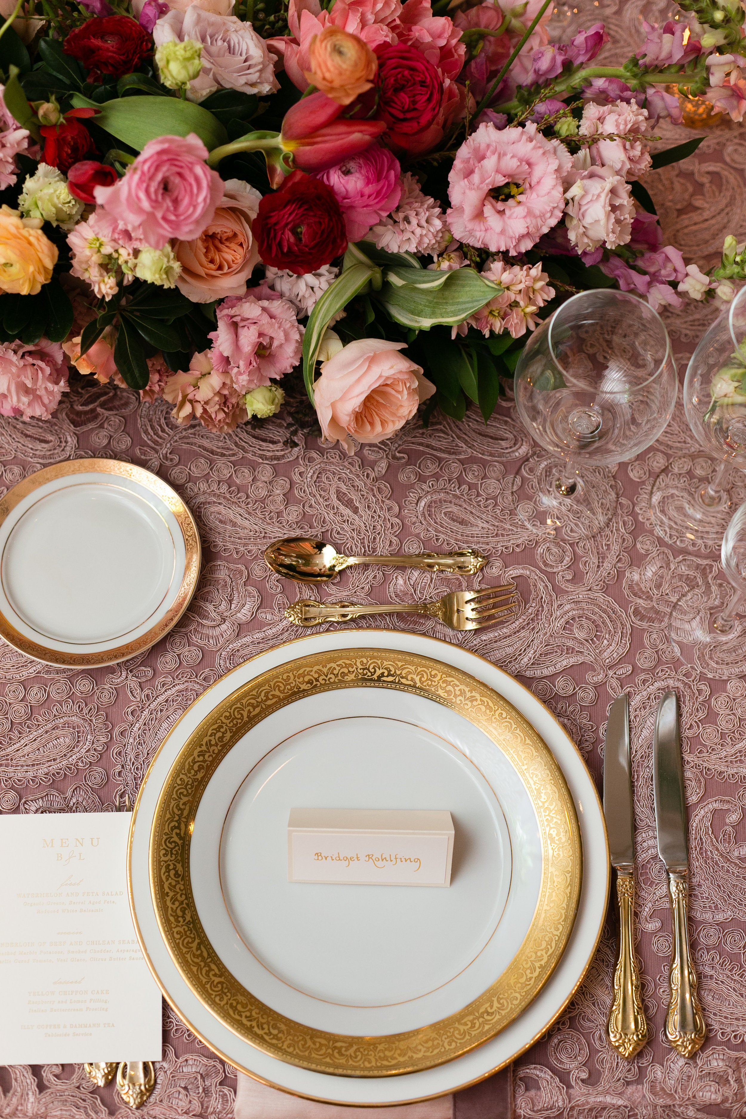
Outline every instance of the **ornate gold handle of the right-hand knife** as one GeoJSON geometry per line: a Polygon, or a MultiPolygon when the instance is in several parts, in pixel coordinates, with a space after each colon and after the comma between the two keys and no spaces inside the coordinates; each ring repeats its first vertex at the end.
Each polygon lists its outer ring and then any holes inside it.
{"type": "Polygon", "coordinates": [[[681,1056],[693,1056],[707,1036],[702,1008],[697,997],[697,975],[689,952],[687,929],[687,875],[669,871],[669,895],[673,919],[671,944],[671,998],[665,1017],[665,1036],[681,1056]]]}

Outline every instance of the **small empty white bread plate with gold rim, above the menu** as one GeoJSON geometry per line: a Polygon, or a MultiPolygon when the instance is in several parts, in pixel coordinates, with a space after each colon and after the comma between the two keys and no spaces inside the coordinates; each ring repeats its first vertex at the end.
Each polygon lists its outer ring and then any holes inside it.
{"type": "Polygon", "coordinates": [[[181,498],[129,462],[58,462],[0,501],[0,634],[53,665],[142,652],[179,620],[200,544],[181,498]]]}

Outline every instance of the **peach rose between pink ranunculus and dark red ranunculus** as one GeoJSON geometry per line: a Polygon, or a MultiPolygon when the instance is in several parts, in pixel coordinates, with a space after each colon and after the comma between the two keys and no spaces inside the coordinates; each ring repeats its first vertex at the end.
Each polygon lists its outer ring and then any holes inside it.
{"type": "Polygon", "coordinates": [[[259,261],[252,222],[261,200],[258,190],[247,182],[229,179],[215,217],[199,237],[173,243],[181,264],[177,286],[192,302],[246,293],[246,281],[259,261]]]}

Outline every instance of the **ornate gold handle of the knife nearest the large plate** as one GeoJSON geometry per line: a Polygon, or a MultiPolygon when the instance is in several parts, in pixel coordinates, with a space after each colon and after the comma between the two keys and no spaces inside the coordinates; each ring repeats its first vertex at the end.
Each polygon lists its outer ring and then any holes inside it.
{"type": "Polygon", "coordinates": [[[608,1015],[608,1040],[622,1056],[631,1059],[648,1041],[648,1023],[640,993],[640,971],[634,957],[634,874],[616,877],[620,908],[620,956],[614,972],[614,1002],[608,1015]]]}

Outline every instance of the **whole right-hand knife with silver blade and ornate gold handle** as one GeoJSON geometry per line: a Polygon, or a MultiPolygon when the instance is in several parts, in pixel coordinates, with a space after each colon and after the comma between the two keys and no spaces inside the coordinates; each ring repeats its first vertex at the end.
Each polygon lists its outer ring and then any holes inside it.
{"type": "Polygon", "coordinates": [[[689,856],[687,850],[687,802],[679,737],[679,700],[667,692],[658,705],[653,741],[653,792],[658,854],[669,875],[673,921],[671,942],[670,999],[665,1036],[681,1056],[693,1056],[707,1036],[702,1008],[697,997],[697,975],[689,951],[687,899],[689,856]]]}

